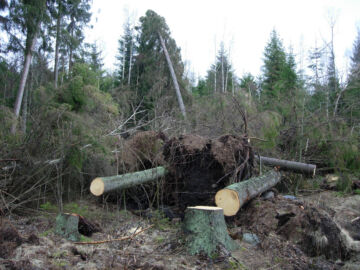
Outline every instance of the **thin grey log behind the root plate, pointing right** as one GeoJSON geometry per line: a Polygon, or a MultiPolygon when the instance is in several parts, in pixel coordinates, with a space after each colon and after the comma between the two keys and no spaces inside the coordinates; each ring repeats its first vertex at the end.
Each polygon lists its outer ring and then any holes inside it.
{"type": "Polygon", "coordinates": [[[313,164],[306,164],[296,161],[289,161],[289,160],[262,157],[262,156],[260,157],[255,156],[255,158],[263,165],[280,167],[279,169],[283,171],[292,171],[296,173],[303,173],[303,174],[315,176],[316,165],[313,164]]]}

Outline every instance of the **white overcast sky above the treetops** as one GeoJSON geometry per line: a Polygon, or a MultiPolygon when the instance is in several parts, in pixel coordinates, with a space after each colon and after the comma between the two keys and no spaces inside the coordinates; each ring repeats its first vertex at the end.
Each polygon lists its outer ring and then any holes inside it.
{"type": "Polygon", "coordinates": [[[217,49],[221,41],[230,49],[237,75],[259,75],[274,28],[285,48],[293,47],[298,67],[306,67],[315,42],[320,46],[330,41],[330,16],[336,18],[334,47],[342,75],[360,27],[360,0],[93,0],[93,29],[87,30],[87,41],[96,41],[103,50],[105,68],[114,69],[127,14],[137,23],[148,9],[166,19],[183,60],[196,76],[205,76],[214,62],[215,41],[217,49]]]}

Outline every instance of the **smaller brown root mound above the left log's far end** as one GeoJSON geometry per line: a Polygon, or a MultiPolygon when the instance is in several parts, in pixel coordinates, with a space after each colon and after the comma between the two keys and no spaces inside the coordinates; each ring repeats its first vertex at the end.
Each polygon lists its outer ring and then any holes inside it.
{"type": "Polygon", "coordinates": [[[145,170],[163,165],[162,147],[165,139],[162,132],[142,131],[125,141],[121,160],[126,171],[145,170]]]}

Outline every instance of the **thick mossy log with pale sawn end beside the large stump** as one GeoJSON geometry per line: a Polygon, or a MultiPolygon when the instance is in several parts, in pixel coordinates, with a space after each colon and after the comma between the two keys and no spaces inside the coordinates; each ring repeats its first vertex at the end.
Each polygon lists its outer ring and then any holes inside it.
{"type": "Polygon", "coordinates": [[[234,216],[244,203],[275,186],[279,181],[280,173],[272,170],[219,190],[215,195],[215,203],[224,209],[225,216],[234,216]]]}

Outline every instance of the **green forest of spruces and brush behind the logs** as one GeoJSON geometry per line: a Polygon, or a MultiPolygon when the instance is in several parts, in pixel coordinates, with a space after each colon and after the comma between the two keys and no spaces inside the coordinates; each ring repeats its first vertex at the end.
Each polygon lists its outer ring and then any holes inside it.
{"type": "Polygon", "coordinates": [[[124,144],[138,131],[241,135],[244,118],[259,154],[341,174],[339,188],[352,192],[360,175],[360,32],[343,83],[333,39],[308,53],[312,74],[304,74],[276,30],[264,44],[261,77],[238,77],[221,43],[194,83],[165,18],[151,10],[124,24],[117,70],[105,72],[101,50],[84,42],[90,8],[89,0],[0,0],[0,211],[49,198],[61,209],[63,200],[85,196],[94,177],[135,170],[124,144]]]}

